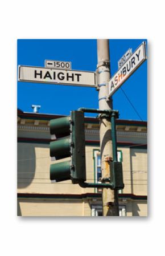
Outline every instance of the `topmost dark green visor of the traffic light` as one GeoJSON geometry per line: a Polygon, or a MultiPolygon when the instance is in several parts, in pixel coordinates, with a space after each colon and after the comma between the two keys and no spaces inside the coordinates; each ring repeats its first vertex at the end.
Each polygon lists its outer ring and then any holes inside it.
{"type": "Polygon", "coordinates": [[[57,138],[60,136],[68,136],[70,133],[70,120],[70,116],[50,120],[51,135],[55,135],[57,138]]]}

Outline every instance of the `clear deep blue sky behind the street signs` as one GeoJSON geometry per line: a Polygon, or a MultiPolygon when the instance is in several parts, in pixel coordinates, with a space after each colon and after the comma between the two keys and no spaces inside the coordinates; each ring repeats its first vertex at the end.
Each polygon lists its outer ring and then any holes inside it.
{"type": "MultiPolygon", "coordinates": [[[[144,39],[110,39],[110,67],[112,76],[118,70],[118,60],[132,48],[133,52],[144,39]]],[[[44,60],[72,62],[73,70],[96,71],[96,39],[19,39],[18,65],[44,67],[44,60]]],[[[147,120],[147,61],[113,95],[113,109],[119,119],[147,120]],[[123,94],[125,92],[134,108],[123,94]]],[[[95,88],[18,82],[18,108],[32,112],[31,105],[41,105],[40,113],[69,115],[79,107],[98,108],[95,88]]],[[[95,116],[86,114],[86,116],[95,116]]]]}

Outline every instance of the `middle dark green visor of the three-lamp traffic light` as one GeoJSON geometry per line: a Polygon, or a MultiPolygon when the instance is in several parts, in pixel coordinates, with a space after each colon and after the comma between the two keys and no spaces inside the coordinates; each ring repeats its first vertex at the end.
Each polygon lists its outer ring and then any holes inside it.
{"type": "Polygon", "coordinates": [[[55,140],[50,143],[50,156],[56,160],[71,156],[70,153],[71,141],[70,137],[63,140],[55,140]]]}

